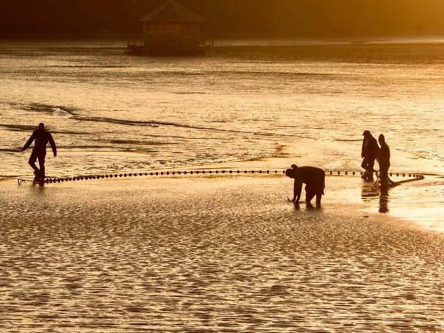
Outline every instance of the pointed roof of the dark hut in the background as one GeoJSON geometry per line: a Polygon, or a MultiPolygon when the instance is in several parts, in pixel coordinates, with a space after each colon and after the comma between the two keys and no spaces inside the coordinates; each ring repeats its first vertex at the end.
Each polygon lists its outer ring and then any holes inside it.
{"type": "MultiPolygon", "coordinates": [[[[210,0],[211,1],[211,0],[210,0]]],[[[164,3],[159,8],[149,12],[139,19],[140,22],[205,22],[205,19],[191,12],[188,8],[180,5],[174,0],[164,3]]]]}

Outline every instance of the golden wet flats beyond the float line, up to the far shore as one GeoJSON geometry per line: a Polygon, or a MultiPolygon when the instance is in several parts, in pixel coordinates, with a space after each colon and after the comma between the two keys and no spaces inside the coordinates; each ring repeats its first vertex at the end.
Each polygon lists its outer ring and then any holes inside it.
{"type": "Polygon", "coordinates": [[[57,175],[273,157],[282,146],[359,169],[364,129],[386,134],[394,169],[442,172],[444,44],[255,41],[205,58],[124,56],[122,44],[1,42],[0,176],[29,173],[17,148],[40,121],[60,146],[48,162],[57,175]]]}

